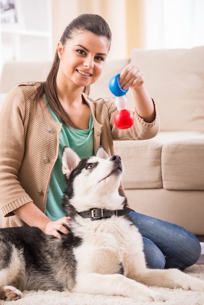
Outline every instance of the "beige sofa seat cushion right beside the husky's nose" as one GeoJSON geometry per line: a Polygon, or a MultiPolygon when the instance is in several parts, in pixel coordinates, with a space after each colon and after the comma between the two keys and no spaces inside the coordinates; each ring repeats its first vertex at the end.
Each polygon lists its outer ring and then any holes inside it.
{"type": "Polygon", "coordinates": [[[162,188],[162,144],[155,140],[114,141],[115,153],[124,164],[122,185],[125,189],[162,188]]]}

